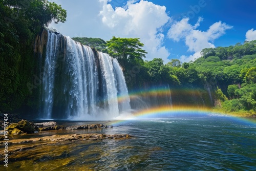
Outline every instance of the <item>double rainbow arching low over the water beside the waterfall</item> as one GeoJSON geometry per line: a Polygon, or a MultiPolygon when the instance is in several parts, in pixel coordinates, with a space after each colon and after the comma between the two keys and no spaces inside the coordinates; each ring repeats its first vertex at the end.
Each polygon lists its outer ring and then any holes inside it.
{"type": "MultiPolygon", "coordinates": [[[[200,89],[169,89],[169,87],[155,87],[148,89],[147,91],[134,91],[129,94],[130,99],[137,97],[162,97],[162,96],[172,96],[175,94],[187,94],[187,95],[199,95],[202,90],[200,89]]],[[[127,98],[127,96],[119,96],[118,102],[121,102],[127,98]]],[[[133,111],[130,114],[121,114],[113,123],[125,122],[125,120],[136,120],[136,119],[147,119],[147,118],[170,118],[170,117],[214,117],[223,116],[230,117],[232,119],[240,120],[242,122],[249,122],[256,124],[256,119],[237,117],[226,113],[216,113],[213,112],[211,108],[205,106],[193,106],[193,105],[162,105],[154,106],[152,108],[142,109],[138,111],[133,111]]]]}

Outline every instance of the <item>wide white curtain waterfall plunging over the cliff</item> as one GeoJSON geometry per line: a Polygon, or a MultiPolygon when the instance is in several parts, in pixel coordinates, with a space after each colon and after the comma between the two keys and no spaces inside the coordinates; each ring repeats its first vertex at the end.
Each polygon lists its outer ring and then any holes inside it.
{"type": "Polygon", "coordinates": [[[122,70],[108,54],[48,31],[42,66],[41,118],[111,119],[131,110],[122,70]]]}

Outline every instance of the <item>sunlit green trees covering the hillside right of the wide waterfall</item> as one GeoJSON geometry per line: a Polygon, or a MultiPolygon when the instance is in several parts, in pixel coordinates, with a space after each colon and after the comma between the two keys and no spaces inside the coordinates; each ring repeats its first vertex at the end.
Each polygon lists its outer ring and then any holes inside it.
{"type": "MultiPolygon", "coordinates": [[[[84,42],[84,38],[76,40],[90,44],[84,42]]],[[[146,52],[141,49],[143,44],[138,38],[113,37],[105,44],[102,40],[98,42],[101,44],[99,51],[119,60],[129,90],[168,84],[172,90],[179,90],[175,98],[180,102],[196,104],[197,98],[187,92],[194,90],[194,94],[204,100],[204,105],[215,106],[216,110],[256,113],[256,40],[203,49],[202,57],[194,62],[171,59],[166,64],[161,58],[143,60],[146,52]]]]}

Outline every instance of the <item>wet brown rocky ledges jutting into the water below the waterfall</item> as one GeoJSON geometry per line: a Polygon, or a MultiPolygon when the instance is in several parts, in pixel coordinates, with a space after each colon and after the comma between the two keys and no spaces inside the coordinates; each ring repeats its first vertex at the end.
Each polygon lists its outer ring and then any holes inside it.
{"type": "MultiPolygon", "coordinates": [[[[8,149],[8,153],[24,151],[25,149],[34,148],[41,145],[48,145],[53,143],[60,143],[65,141],[85,141],[85,140],[108,140],[108,139],[124,139],[132,137],[129,134],[67,134],[64,135],[52,135],[44,136],[39,138],[24,138],[24,135],[37,135],[35,133],[59,130],[61,134],[68,130],[91,130],[91,129],[111,129],[112,125],[104,125],[100,123],[96,124],[84,124],[84,125],[72,125],[72,126],[62,126],[58,125],[57,122],[41,122],[34,123],[28,120],[20,119],[17,114],[8,114],[8,121],[4,122],[5,114],[0,113],[0,129],[2,129],[2,134],[0,134],[0,142],[5,142],[6,137],[4,136],[5,131],[8,131],[8,144],[11,147],[8,149]],[[9,119],[10,118],[10,119],[9,119]]],[[[1,143],[1,146],[4,143],[1,143]]],[[[0,156],[2,156],[0,152],[0,156]]]]}

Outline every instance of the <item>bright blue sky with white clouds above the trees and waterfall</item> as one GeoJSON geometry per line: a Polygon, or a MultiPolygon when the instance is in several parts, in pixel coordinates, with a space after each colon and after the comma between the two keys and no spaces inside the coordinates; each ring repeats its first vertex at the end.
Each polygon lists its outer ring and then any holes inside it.
{"type": "Polygon", "coordinates": [[[146,60],[200,57],[203,48],[256,39],[256,0],[53,0],[67,22],[51,24],[70,37],[139,37],[146,60]]]}

